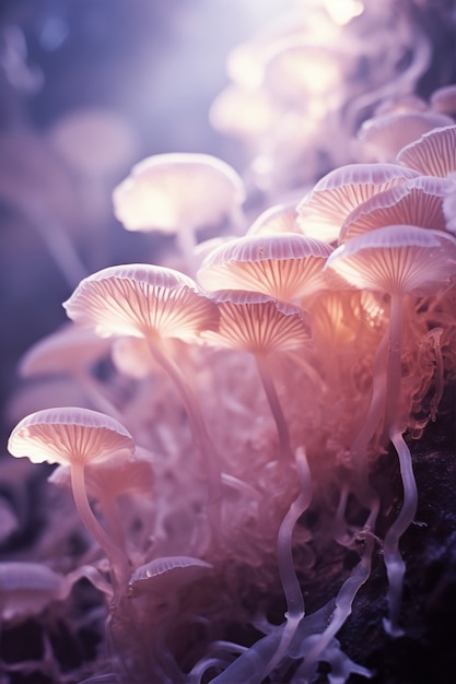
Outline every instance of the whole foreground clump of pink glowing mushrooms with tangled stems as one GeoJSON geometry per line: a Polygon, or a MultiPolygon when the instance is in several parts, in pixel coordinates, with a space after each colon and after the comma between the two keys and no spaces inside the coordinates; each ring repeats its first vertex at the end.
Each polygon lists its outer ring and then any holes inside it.
{"type": "MultiPolygon", "coordinates": [[[[407,635],[410,435],[436,420],[456,373],[456,126],[424,119],[404,145],[395,119],[388,154],[261,208],[243,236],[242,182],[206,155],[149,158],[115,190],[128,229],[178,235],[187,272],[93,273],[65,303],[73,328],[24,359],[24,375],[46,375],[55,355],[91,390],[84,406],[25,416],[9,440],[12,456],[59,464],[49,481],[71,487],[90,536],[65,577],[39,564],[11,567],[15,582],[0,574],[7,622],[14,600],[38,612],[81,577],[102,592],[105,650],[87,684],[311,684],[321,663],[330,684],[370,679],[339,632],[374,564],[384,629],[407,635]],[[236,235],[197,270],[196,231],[222,214],[236,235]],[[396,515],[375,479],[388,449],[396,515]],[[325,567],[337,570],[318,604],[307,585],[325,567]]],[[[382,146],[388,127],[374,118],[364,139],[382,146]]]]}

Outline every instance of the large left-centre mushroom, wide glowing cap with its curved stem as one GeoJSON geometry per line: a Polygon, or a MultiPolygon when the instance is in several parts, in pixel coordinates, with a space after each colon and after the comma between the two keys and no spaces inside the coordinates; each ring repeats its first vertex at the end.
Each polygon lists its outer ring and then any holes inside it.
{"type": "Polygon", "coordinates": [[[214,449],[194,390],[167,353],[166,342],[197,342],[214,330],[219,311],[187,275],[157,266],[109,267],[84,279],[63,303],[68,316],[101,337],[145,339],[150,353],[174,382],[187,412],[194,438],[208,470],[210,498],[217,498],[220,472],[214,449]]]}

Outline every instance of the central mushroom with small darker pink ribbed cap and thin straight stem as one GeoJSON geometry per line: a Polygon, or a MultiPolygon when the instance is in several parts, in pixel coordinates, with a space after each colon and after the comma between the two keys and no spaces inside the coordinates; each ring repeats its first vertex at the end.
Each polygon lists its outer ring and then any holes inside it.
{"type": "Polygon", "coordinates": [[[302,309],[271,296],[242,291],[213,294],[220,311],[217,331],[206,331],[204,339],[220,347],[250,352],[255,356],[265,393],[277,425],[282,461],[292,462],[293,451],[285,416],[272,380],[270,356],[302,349],[311,332],[302,309]]]}

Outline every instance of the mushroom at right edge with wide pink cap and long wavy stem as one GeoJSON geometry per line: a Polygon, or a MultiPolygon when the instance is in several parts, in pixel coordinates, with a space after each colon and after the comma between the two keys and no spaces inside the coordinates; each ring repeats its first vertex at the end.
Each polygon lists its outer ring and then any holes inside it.
{"type": "MultiPolygon", "coordinates": [[[[405,564],[399,540],[417,508],[417,487],[409,448],[404,439],[406,415],[401,402],[401,352],[404,302],[408,295],[435,292],[456,271],[456,239],[445,233],[411,225],[391,225],[355,237],[338,247],[329,257],[327,269],[335,270],[350,286],[389,295],[389,326],[381,346],[386,363],[374,366],[371,405],[362,427],[363,438],[352,447],[359,463],[365,447],[384,425],[399,457],[404,485],[402,508],[386,534],[384,558],[389,580],[389,617],[384,621],[389,634],[400,635],[398,616],[405,564]]],[[[355,440],[356,441],[356,440],[355,440]]]]}

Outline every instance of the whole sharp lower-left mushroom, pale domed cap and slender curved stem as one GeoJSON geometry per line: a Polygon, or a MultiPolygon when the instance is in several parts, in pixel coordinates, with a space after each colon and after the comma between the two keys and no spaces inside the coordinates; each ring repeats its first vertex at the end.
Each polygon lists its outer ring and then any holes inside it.
{"type": "Polygon", "coordinates": [[[128,580],[129,562],[95,518],[89,504],[84,471],[87,463],[103,462],[113,456],[131,458],[135,443],[127,429],[114,418],[74,406],[47,409],[24,417],[12,431],[8,449],[33,463],[59,463],[71,468],[71,487],[82,523],[102,546],[113,564],[118,588],[128,580]]]}

